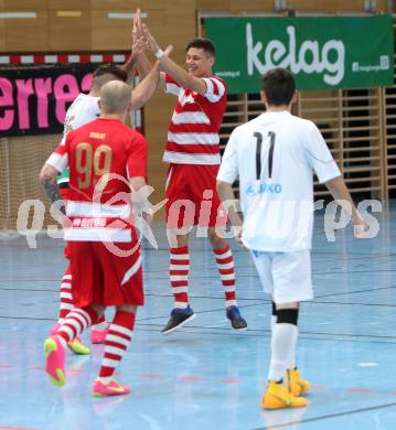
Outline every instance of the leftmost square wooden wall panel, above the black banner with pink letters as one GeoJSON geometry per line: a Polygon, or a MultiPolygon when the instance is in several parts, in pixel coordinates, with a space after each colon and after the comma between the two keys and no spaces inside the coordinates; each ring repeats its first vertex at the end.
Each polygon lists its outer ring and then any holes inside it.
{"type": "MultiPolygon", "coordinates": [[[[12,11],[12,10],[9,10],[12,11]]],[[[33,52],[50,50],[49,11],[35,10],[36,18],[7,19],[6,51],[33,52]]]]}

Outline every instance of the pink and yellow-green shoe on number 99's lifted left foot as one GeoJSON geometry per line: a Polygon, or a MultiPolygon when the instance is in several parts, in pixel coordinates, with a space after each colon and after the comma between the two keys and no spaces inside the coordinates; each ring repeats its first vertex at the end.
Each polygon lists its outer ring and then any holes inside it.
{"type": "Polygon", "coordinates": [[[65,378],[65,350],[58,336],[50,336],[44,342],[45,372],[52,384],[63,387],[65,378]]]}

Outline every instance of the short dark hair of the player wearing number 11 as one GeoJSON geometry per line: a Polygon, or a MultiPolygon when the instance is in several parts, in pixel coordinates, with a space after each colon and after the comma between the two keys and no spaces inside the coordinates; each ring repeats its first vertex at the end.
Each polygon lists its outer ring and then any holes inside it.
{"type": "Polygon", "coordinates": [[[272,68],[261,76],[261,89],[269,106],[289,105],[296,92],[295,77],[285,68],[272,68]]]}

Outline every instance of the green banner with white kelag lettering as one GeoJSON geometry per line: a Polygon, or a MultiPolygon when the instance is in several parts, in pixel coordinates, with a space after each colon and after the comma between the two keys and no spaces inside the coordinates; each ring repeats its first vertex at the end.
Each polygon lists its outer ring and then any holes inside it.
{"type": "Polygon", "coordinates": [[[206,18],[214,72],[229,93],[258,93],[259,77],[289,69],[298,89],[392,85],[390,15],[370,18],[206,18]]]}

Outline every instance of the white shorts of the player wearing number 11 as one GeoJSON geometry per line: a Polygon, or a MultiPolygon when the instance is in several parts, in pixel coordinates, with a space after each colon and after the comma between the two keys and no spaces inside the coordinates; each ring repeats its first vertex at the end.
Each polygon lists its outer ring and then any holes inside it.
{"type": "Polygon", "coordinates": [[[276,303],[301,302],[313,299],[311,252],[267,252],[251,250],[253,260],[265,292],[276,303]]]}

